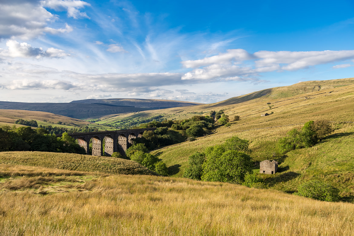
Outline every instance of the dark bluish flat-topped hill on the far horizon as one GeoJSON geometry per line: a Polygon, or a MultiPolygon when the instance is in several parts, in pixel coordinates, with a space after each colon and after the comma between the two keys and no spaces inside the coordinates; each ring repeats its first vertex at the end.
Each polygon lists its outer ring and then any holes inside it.
{"type": "Polygon", "coordinates": [[[70,103],[19,103],[1,101],[0,109],[44,111],[76,119],[84,119],[110,114],[131,113],[142,110],[182,107],[196,104],[200,103],[155,99],[86,99],[70,103]],[[120,100],[122,100],[122,102],[119,102],[120,100]]]}

